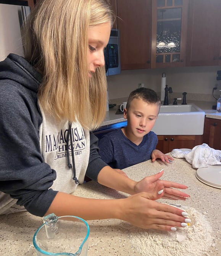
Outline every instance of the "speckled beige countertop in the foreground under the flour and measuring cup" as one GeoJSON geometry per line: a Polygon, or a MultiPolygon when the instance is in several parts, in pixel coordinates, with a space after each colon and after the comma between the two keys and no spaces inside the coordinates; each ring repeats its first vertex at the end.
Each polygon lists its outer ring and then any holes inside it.
{"type": "MultiPolygon", "coordinates": [[[[213,242],[209,256],[221,255],[221,200],[220,189],[210,187],[198,181],[195,177],[196,169],[186,162],[185,159],[175,159],[171,164],[163,164],[161,161],[143,162],[124,169],[129,177],[139,181],[145,176],[165,169],[163,179],[186,184],[186,190],[190,199],[186,202],[176,201],[186,206],[195,208],[203,213],[212,227],[213,242]]],[[[94,181],[77,187],[75,195],[98,199],[123,198],[127,195],[108,189],[94,181]]],[[[160,200],[162,202],[171,202],[160,200]]],[[[174,201],[173,201],[174,202],[174,201]]],[[[0,255],[22,256],[36,255],[32,245],[32,237],[37,228],[42,224],[42,218],[35,217],[30,213],[14,213],[0,215],[0,255]]],[[[88,256],[141,256],[132,245],[128,236],[128,230],[124,228],[125,222],[120,220],[95,220],[88,221],[90,226],[88,256]]],[[[147,238],[148,239],[148,238],[147,238]]],[[[148,255],[148,253],[146,254],[148,255]]],[[[205,255],[205,254],[203,254],[205,255]]],[[[184,256],[184,255],[181,255],[184,256]]],[[[187,256],[187,255],[185,255],[187,256]]]]}

